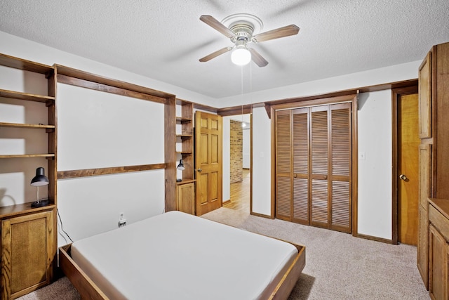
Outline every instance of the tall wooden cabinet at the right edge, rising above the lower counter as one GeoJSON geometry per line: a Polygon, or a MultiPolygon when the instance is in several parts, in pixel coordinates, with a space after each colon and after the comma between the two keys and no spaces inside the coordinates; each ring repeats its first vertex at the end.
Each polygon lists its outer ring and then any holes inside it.
{"type": "MultiPolygon", "coordinates": [[[[420,233],[417,267],[427,288],[436,235],[429,228],[429,197],[449,202],[449,43],[433,46],[419,68],[420,111],[420,233]],[[431,237],[429,236],[431,235],[431,237]]],[[[435,254],[435,253],[434,253],[435,254]]],[[[447,293],[447,289],[446,289],[447,293]]]]}

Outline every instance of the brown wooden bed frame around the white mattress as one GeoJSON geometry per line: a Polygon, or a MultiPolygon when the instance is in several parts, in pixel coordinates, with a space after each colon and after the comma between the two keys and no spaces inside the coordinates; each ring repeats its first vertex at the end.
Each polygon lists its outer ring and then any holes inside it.
{"type": "MultiPolygon", "coordinates": [[[[304,269],[306,264],[306,248],[297,244],[293,244],[293,246],[297,248],[298,253],[287,268],[286,273],[282,275],[281,280],[277,282],[275,289],[268,299],[288,299],[304,269]]],[[[72,259],[70,254],[71,247],[72,244],[67,244],[59,248],[59,266],[62,272],[69,278],[70,282],[72,282],[72,285],[78,290],[81,299],[109,299],[72,259]]]]}

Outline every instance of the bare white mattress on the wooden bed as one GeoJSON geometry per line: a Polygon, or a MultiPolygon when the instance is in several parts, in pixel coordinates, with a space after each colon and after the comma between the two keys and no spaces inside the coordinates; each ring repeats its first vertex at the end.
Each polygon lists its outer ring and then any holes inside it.
{"type": "Polygon", "coordinates": [[[110,299],[264,299],[296,254],[180,211],[72,244],[74,261],[110,299]]]}

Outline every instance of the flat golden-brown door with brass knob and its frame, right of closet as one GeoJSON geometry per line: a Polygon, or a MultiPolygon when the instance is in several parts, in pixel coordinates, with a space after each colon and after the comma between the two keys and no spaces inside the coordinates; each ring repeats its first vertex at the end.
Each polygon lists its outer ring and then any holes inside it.
{"type": "Polygon", "coordinates": [[[417,86],[394,89],[393,242],[417,245],[419,148],[417,86]]]}

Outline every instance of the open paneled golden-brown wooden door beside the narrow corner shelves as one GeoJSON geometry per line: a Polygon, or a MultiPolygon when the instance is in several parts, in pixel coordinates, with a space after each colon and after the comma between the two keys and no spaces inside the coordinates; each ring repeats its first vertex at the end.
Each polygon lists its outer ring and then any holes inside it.
{"type": "Polygon", "coordinates": [[[196,214],[222,207],[222,117],[195,113],[196,214]]]}

